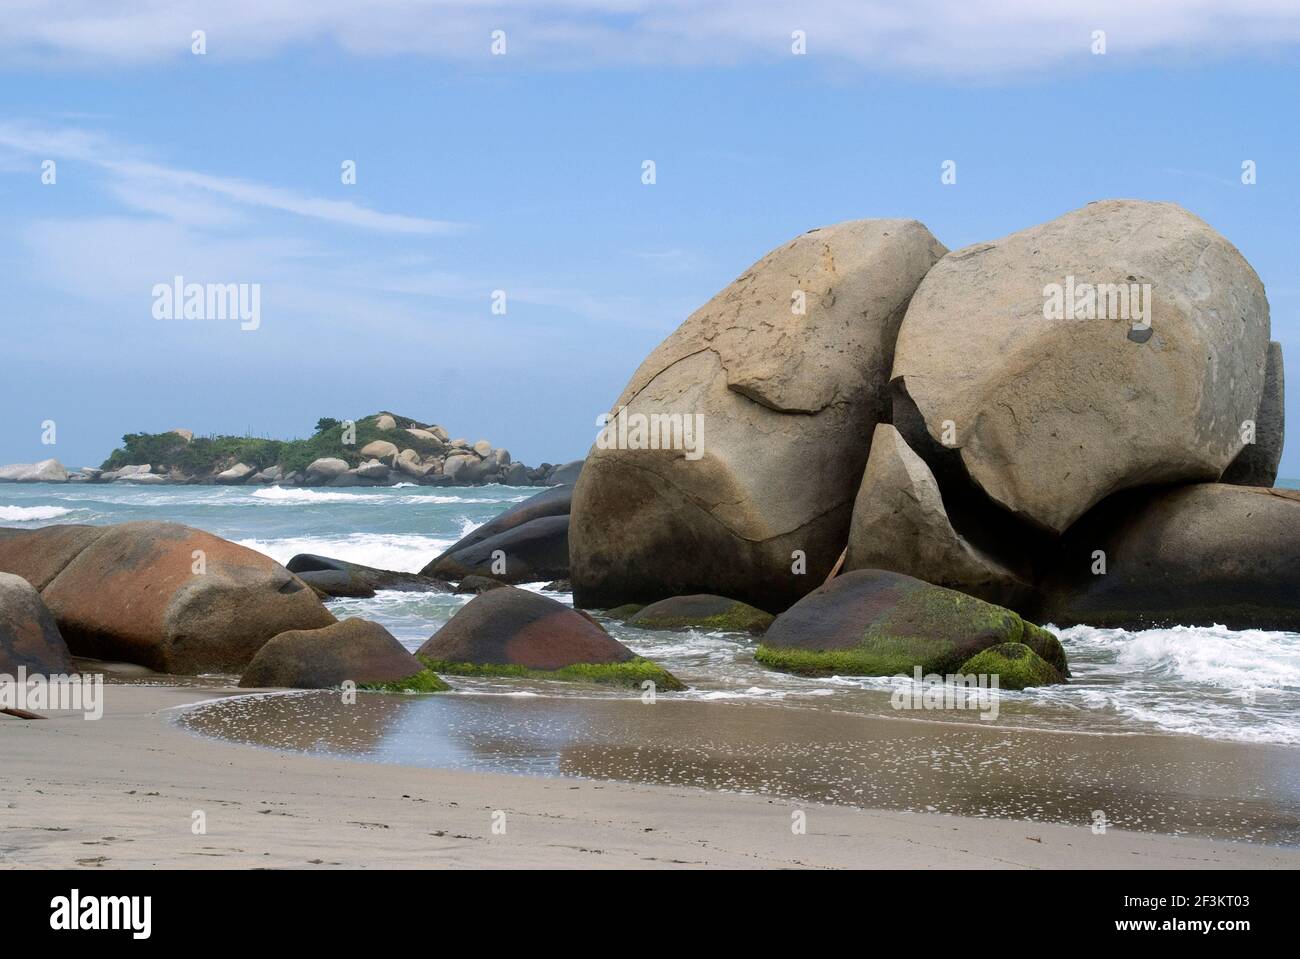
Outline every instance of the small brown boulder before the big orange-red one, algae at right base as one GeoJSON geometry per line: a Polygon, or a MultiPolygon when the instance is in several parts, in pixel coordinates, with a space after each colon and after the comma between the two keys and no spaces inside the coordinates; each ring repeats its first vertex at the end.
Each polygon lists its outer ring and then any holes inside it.
{"type": "Polygon", "coordinates": [[[438,693],[450,689],[378,622],[347,619],[272,637],[239,678],[244,687],[359,687],[438,693]]]}

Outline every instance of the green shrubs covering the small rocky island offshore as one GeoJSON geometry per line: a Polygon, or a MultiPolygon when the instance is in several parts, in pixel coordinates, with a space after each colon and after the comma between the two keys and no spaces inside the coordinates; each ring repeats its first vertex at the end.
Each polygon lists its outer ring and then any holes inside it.
{"type": "Polygon", "coordinates": [[[315,460],[334,456],[348,467],[359,467],[361,450],[376,439],[386,439],[399,450],[415,450],[420,456],[433,456],[445,451],[445,444],[406,433],[422,428],[408,416],[387,413],[396,429],[381,430],[376,422],[385,413],[373,413],[355,422],[355,439],[343,443],[347,425],[333,417],[321,417],[316,433],[307,439],[265,439],[261,437],[195,437],[186,441],[178,433],[127,433],[122,446],[114,450],[101,469],[113,470],[136,464],[151,464],[155,469],[176,469],[186,476],[208,476],[244,463],[255,469],[280,467],[285,476],[303,472],[315,460]]]}

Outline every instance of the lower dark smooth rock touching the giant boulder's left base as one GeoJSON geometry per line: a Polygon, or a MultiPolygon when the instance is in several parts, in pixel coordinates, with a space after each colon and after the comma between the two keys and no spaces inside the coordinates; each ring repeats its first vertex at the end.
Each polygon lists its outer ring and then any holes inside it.
{"type": "Polygon", "coordinates": [[[546,582],[569,574],[569,517],[543,516],[464,548],[452,548],[421,573],[460,581],[485,576],[502,582],[546,582]]]}

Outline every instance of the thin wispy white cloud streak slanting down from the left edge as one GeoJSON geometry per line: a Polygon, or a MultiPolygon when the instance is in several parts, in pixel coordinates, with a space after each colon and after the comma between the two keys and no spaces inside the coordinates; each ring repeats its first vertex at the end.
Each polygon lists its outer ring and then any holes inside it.
{"type": "MultiPolygon", "coordinates": [[[[109,188],[118,199],[155,213],[166,211],[173,216],[182,216],[183,208],[188,205],[195,216],[211,220],[221,211],[205,198],[220,198],[239,207],[291,213],[380,233],[447,234],[464,226],[446,220],[382,213],[348,200],[329,200],[247,179],[166,166],[140,159],[130,148],[103,134],[74,127],[42,129],[0,122],[0,149],[98,166],[110,175],[109,188]]],[[[229,211],[225,216],[229,216],[229,211]]]]}

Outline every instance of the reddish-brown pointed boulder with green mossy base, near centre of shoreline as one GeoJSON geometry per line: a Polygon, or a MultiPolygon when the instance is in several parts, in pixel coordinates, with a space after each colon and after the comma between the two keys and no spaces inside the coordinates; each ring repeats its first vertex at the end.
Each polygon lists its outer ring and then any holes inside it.
{"type": "Polygon", "coordinates": [[[681,689],[595,621],[547,596],[504,586],[480,593],[416,651],[451,674],[541,676],[558,680],[681,689]]]}

